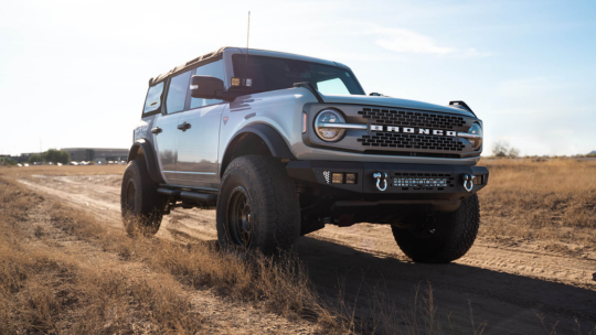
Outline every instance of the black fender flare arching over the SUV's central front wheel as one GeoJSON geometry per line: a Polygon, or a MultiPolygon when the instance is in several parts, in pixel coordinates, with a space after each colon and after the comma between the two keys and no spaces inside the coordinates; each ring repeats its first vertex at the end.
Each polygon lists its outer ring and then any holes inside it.
{"type": "MultiPolygon", "coordinates": [[[[228,154],[228,150],[231,149],[230,147],[231,143],[234,143],[237,138],[246,133],[253,133],[259,137],[263,140],[263,142],[265,142],[267,148],[269,148],[269,151],[272,152],[273,156],[278,158],[278,159],[296,160],[296,156],[294,156],[294,154],[291,153],[291,150],[289,150],[289,147],[286,140],[284,139],[284,137],[281,137],[281,134],[279,134],[277,130],[275,130],[275,128],[273,128],[272,126],[267,123],[251,123],[240,129],[238,131],[236,131],[236,133],[234,133],[234,136],[227,142],[227,145],[225,147],[225,151],[222,158],[222,163],[223,163],[224,158],[226,158],[228,154]]],[[[220,175],[223,175],[224,171],[221,171],[221,169],[223,169],[223,164],[222,166],[220,166],[220,175]]]]}

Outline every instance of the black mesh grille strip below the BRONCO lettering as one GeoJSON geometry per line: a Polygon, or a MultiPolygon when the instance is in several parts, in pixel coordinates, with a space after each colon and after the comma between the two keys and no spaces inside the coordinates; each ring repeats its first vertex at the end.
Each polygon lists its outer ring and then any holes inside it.
{"type": "Polygon", "coordinates": [[[395,132],[376,132],[374,134],[365,134],[356,141],[366,147],[445,151],[462,151],[465,148],[465,145],[455,138],[395,132]]]}

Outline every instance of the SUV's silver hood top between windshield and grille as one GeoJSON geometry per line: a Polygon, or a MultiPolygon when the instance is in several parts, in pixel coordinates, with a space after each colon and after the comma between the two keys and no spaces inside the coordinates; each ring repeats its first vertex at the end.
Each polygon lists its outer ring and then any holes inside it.
{"type": "Polygon", "coordinates": [[[427,111],[449,112],[457,114],[467,117],[475,117],[473,114],[468,110],[459,109],[457,107],[440,106],[416,100],[390,98],[390,97],[374,97],[374,96],[356,96],[356,95],[321,95],[324,102],[330,104],[352,104],[352,105],[368,105],[380,106],[390,108],[411,108],[427,111]]]}

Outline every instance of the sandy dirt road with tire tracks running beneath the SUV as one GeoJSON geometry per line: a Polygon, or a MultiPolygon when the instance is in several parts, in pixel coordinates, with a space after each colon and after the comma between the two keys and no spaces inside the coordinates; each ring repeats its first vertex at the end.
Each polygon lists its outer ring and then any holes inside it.
{"type": "MultiPolygon", "coordinates": [[[[20,182],[105,218],[121,229],[120,175],[43,176],[20,182]]],[[[158,237],[174,240],[214,240],[214,210],[177,209],[167,216],[158,237]]],[[[596,255],[566,256],[540,246],[501,246],[477,240],[462,259],[451,264],[416,264],[400,251],[387,226],[369,224],[326,227],[301,238],[299,257],[312,282],[324,295],[344,291],[358,300],[365,320],[371,288],[407,309],[416,285],[433,287],[441,323],[470,328],[471,302],[483,334],[577,334],[596,324],[596,255]],[[338,280],[339,279],[339,280],[338,280]],[[341,284],[339,284],[341,282],[341,284]],[[540,320],[543,316],[543,322],[540,320]],[[577,323],[576,321],[577,320],[577,323]]],[[[583,334],[582,333],[582,334],[583,334]]]]}

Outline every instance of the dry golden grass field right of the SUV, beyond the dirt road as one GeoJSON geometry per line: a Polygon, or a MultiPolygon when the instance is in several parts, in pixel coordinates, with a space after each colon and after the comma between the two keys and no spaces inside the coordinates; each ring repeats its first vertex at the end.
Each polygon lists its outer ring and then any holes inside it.
{"type": "Polygon", "coordinates": [[[479,193],[481,237],[596,247],[596,161],[483,160],[480,165],[490,171],[489,185],[479,193]]]}

